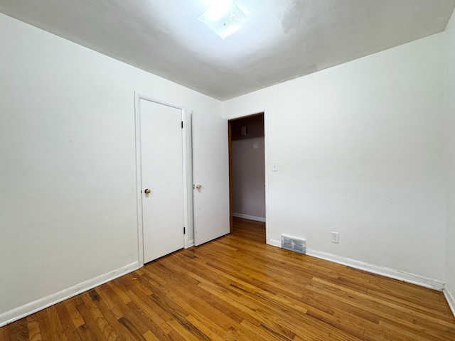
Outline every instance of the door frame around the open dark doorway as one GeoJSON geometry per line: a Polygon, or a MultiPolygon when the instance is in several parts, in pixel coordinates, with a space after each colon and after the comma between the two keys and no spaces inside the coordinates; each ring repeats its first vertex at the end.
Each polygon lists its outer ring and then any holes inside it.
{"type": "Polygon", "coordinates": [[[230,214],[230,232],[232,232],[233,219],[232,219],[232,132],[230,126],[230,120],[243,119],[246,117],[252,117],[257,114],[264,113],[264,173],[265,173],[265,243],[270,244],[270,213],[269,213],[269,129],[267,124],[268,108],[257,109],[251,112],[234,114],[230,117],[225,117],[228,119],[228,139],[229,139],[229,214],[230,214]]]}

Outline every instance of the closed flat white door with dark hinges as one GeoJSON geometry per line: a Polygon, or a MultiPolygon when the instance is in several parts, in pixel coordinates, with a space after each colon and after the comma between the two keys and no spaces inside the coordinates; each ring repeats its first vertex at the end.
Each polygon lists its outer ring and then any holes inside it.
{"type": "Polygon", "coordinates": [[[139,103],[146,263],[184,247],[182,110],[146,99],[139,103]]]}

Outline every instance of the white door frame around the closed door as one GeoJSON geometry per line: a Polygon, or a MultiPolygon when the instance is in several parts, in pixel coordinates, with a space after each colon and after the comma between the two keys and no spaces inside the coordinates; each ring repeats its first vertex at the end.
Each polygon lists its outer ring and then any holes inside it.
{"type": "MultiPolygon", "coordinates": [[[[136,185],[137,185],[137,237],[139,268],[144,266],[144,224],[142,220],[142,160],[141,160],[141,99],[157,104],[166,105],[181,111],[182,129],[182,173],[183,173],[183,234],[184,247],[188,248],[188,156],[186,152],[186,109],[179,105],[163,101],[148,94],[134,92],[134,121],[136,135],[136,185]]],[[[192,193],[191,193],[192,194],[192,193]]]]}

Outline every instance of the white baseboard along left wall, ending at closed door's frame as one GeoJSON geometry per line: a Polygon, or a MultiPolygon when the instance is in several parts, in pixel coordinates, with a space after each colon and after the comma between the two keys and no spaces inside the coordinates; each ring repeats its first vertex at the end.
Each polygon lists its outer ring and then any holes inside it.
{"type": "Polygon", "coordinates": [[[115,278],[129,274],[137,269],[139,269],[139,261],[135,261],[132,264],[122,266],[122,268],[109,271],[106,274],[89,279],[88,281],[71,286],[70,288],[63,289],[57,293],[52,293],[49,296],[45,296],[31,303],[26,303],[18,308],[14,308],[13,310],[6,311],[6,313],[0,314],[0,327],[16,320],[20,320],[21,318],[25,318],[26,316],[36,313],[39,310],[43,310],[44,308],[48,308],[50,305],[65,301],[67,298],[76,296],[84,291],[95,288],[96,286],[112,281],[115,278]]]}

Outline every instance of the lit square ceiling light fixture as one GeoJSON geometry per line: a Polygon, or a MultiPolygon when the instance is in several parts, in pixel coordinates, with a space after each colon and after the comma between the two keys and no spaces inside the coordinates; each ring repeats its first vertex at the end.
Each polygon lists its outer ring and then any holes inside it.
{"type": "Polygon", "coordinates": [[[250,22],[250,18],[230,0],[216,1],[198,20],[223,39],[250,22]]]}

